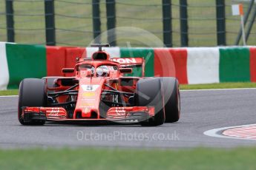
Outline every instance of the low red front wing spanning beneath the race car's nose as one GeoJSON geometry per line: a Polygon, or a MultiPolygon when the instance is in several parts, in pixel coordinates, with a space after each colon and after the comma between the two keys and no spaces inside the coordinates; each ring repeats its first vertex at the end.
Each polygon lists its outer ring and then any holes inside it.
{"type": "Polygon", "coordinates": [[[46,121],[112,121],[134,123],[148,120],[154,116],[153,106],[111,107],[108,109],[106,118],[68,118],[68,113],[62,107],[23,107],[22,118],[24,122],[31,120],[46,121]]]}

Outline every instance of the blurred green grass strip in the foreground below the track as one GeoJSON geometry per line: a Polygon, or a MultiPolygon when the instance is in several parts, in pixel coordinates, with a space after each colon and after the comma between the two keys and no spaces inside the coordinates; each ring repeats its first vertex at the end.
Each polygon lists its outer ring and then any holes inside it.
{"type": "Polygon", "coordinates": [[[0,169],[255,169],[256,148],[0,150],[0,169]]]}

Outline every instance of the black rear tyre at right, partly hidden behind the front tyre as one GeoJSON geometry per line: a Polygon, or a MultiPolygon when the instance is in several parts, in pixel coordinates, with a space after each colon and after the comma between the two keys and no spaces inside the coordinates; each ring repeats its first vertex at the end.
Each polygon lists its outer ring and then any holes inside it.
{"type": "Polygon", "coordinates": [[[165,101],[165,122],[173,123],[180,119],[180,90],[177,78],[160,78],[163,84],[165,101]]]}

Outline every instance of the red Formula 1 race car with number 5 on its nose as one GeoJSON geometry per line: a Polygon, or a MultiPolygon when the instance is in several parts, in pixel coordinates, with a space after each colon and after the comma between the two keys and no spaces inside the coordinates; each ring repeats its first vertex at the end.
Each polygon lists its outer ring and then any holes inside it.
{"type": "Polygon", "coordinates": [[[180,118],[177,78],[144,77],[143,58],[110,58],[102,50],[77,58],[68,77],[26,78],[19,86],[18,118],[22,125],[45,121],[113,121],[158,126],[180,118]],[[129,77],[141,71],[140,77],[129,77]]]}

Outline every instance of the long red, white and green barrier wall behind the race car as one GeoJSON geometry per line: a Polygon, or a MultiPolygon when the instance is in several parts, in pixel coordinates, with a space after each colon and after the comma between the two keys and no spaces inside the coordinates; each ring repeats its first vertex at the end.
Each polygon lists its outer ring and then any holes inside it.
{"type": "MultiPolygon", "coordinates": [[[[0,89],[19,88],[24,78],[63,76],[76,57],[93,47],[45,47],[0,42],[0,89]]],[[[174,76],[180,84],[256,82],[256,47],[103,48],[111,58],[145,58],[145,76],[174,76]]],[[[134,70],[140,76],[141,70],[134,70]]],[[[72,75],[72,74],[71,74],[72,75]]],[[[71,76],[65,75],[65,76],[71,76]]]]}

